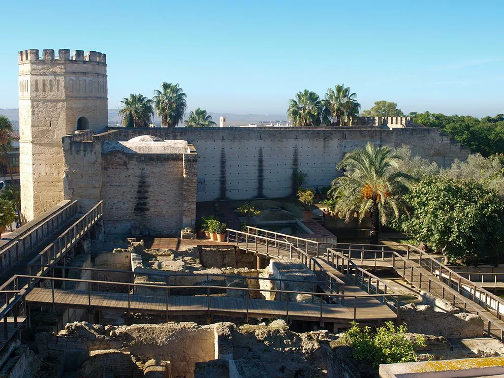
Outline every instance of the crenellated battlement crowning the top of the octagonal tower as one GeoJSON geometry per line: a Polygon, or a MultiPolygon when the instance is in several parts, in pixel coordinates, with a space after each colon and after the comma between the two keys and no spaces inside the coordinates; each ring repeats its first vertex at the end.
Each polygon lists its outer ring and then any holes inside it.
{"type": "Polygon", "coordinates": [[[19,51],[19,64],[32,63],[37,61],[54,62],[54,60],[89,61],[100,65],[106,65],[107,55],[98,51],[88,51],[87,54],[84,54],[84,50],[74,50],[73,54],[70,55],[70,49],[68,48],[60,48],[58,50],[57,57],[54,57],[54,50],[52,49],[43,49],[42,56],[39,55],[39,50],[36,48],[19,51]]]}

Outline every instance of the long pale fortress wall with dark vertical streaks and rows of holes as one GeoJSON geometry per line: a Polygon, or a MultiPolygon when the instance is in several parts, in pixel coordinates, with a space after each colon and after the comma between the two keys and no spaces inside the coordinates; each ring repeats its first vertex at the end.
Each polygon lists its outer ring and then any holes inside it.
{"type": "Polygon", "coordinates": [[[367,142],[400,147],[446,166],[470,153],[437,129],[370,128],[109,128],[100,141],[127,141],[140,135],[183,139],[198,151],[197,201],[285,197],[293,175],[308,174],[306,186],[329,185],[343,156],[367,142]]]}

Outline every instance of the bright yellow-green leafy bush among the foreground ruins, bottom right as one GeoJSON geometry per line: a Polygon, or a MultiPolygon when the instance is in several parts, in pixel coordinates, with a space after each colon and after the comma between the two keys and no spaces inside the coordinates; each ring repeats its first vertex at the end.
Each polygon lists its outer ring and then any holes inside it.
{"type": "Polygon", "coordinates": [[[417,360],[415,350],[425,346],[423,336],[408,337],[408,329],[403,324],[397,328],[392,322],[372,332],[370,327],[360,328],[352,322],[352,327],[343,336],[343,342],[353,347],[353,356],[364,360],[378,369],[382,363],[413,362],[417,360]]]}

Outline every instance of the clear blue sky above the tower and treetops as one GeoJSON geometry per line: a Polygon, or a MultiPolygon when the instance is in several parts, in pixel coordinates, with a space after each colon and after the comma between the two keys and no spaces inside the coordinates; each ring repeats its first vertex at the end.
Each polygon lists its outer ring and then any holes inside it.
{"type": "Polygon", "coordinates": [[[107,54],[109,108],[179,83],[188,109],[284,114],[305,88],[344,83],[363,109],[504,112],[500,1],[9,1],[0,108],[17,107],[17,51],[107,54]]]}

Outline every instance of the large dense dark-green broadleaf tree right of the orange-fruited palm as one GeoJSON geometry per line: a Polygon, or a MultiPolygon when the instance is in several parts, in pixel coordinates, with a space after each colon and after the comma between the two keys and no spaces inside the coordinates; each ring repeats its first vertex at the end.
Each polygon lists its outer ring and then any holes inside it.
{"type": "Polygon", "coordinates": [[[411,217],[402,228],[445,262],[504,255],[504,202],[473,179],[426,176],[405,196],[411,217]]]}

